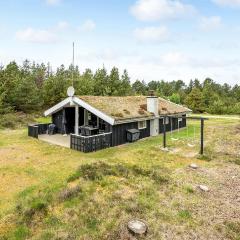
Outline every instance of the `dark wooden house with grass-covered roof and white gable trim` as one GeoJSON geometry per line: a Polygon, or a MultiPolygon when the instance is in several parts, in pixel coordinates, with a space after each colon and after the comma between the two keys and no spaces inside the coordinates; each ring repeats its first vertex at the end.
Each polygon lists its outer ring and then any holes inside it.
{"type": "MultiPolygon", "coordinates": [[[[45,111],[52,116],[58,134],[70,134],[70,147],[83,152],[117,146],[129,141],[135,130],[137,138],[156,136],[166,130],[186,126],[190,109],[155,96],[73,96],[45,111]],[[137,130],[137,131],[136,131],[137,130]]],[[[136,139],[135,139],[136,140],[136,139]]]]}

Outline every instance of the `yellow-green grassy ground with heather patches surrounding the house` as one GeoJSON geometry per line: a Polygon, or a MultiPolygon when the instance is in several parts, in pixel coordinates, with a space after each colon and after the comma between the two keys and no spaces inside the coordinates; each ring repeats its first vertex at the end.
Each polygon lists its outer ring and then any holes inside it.
{"type": "Polygon", "coordinates": [[[135,239],[132,218],[144,239],[240,239],[240,120],[210,119],[205,134],[199,157],[196,122],[168,134],[170,152],[162,136],[84,154],[2,130],[0,239],[135,239]]]}

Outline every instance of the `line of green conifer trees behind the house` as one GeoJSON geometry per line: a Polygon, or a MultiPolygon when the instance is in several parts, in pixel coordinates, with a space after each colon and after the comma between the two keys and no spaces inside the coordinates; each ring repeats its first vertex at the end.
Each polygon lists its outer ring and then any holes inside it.
{"type": "Polygon", "coordinates": [[[116,67],[109,73],[105,67],[80,73],[78,66],[61,65],[53,72],[50,64],[28,60],[21,65],[13,61],[0,66],[0,114],[35,112],[52,106],[66,97],[72,80],[76,95],[147,95],[154,90],[158,96],[186,105],[194,112],[240,114],[240,85],[221,85],[210,78],[202,83],[191,80],[189,84],[183,80],[136,80],[131,84],[127,70],[120,73],[116,67]]]}

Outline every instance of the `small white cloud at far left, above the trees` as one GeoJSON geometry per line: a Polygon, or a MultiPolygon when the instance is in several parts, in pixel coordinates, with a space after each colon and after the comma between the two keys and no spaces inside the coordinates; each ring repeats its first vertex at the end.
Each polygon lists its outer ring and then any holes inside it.
{"type": "Polygon", "coordinates": [[[20,41],[33,43],[53,43],[56,42],[56,35],[49,30],[26,28],[16,32],[16,38],[20,41]]]}

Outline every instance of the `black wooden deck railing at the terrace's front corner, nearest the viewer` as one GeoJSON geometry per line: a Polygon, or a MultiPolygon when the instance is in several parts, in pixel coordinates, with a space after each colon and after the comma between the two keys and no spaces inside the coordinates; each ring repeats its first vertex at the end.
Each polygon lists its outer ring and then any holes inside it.
{"type": "Polygon", "coordinates": [[[81,152],[95,152],[111,147],[112,133],[103,133],[93,136],[81,136],[71,134],[70,147],[81,152]]]}

